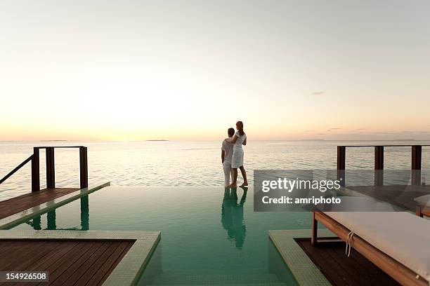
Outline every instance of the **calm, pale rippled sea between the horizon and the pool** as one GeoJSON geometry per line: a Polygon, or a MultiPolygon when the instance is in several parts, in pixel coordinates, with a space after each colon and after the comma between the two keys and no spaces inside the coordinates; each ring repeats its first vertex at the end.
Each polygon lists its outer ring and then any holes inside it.
{"type": "MultiPolygon", "coordinates": [[[[245,168],[252,184],[256,169],[335,169],[337,145],[430,144],[418,141],[276,141],[245,147],[245,168]]],[[[89,182],[115,186],[222,186],[221,142],[0,142],[0,178],[32,154],[34,146],[88,147],[89,182]]],[[[347,169],[373,168],[372,148],[347,149],[347,169]]],[[[41,188],[45,157],[40,156],[41,188]]],[[[423,147],[422,168],[430,167],[423,147]]],[[[387,147],[385,168],[409,169],[410,147],[387,147]]],[[[239,182],[241,182],[239,180],[239,182]]],[[[79,186],[79,151],[56,149],[56,186],[79,186]]],[[[30,192],[30,163],[0,185],[0,200],[30,192]]]]}

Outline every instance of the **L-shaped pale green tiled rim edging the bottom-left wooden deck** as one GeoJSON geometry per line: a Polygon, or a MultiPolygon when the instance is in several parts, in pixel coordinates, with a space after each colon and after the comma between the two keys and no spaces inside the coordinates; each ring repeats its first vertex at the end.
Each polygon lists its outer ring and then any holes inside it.
{"type": "Polygon", "coordinates": [[[136,240],[103,285],[136,285],[161,238],[160,231],[0,231],[2,239],[136,240]]]}

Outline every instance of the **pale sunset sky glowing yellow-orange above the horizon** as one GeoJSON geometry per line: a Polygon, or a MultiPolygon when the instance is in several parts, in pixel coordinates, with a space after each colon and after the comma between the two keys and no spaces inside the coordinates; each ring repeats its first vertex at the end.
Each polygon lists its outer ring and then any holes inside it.
{"type": "Polygon", "coordinates": [[[0,2],[0,140],[430,139],[430,1],[0,2]]]}

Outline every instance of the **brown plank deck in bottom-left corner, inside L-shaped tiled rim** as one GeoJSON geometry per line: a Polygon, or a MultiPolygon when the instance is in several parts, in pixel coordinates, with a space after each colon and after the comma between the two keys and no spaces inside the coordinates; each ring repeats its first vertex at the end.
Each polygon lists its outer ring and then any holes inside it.
{"type": "Polygon", "coordinates": [[[133,243],[134,240],[0,240],[0,271],[48,271],[49,282],[15,285],[101,285],[133,243]]]}

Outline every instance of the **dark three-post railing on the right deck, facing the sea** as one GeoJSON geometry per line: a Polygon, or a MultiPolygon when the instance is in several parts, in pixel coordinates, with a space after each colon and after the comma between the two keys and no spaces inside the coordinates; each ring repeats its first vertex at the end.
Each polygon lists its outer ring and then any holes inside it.
{"type": "Polygon", "coordinates": [[[337,147],[337,179],[345,186],[346,147],[374,147],[374,184],[384,184],[384,147],[411,147],[411,184],[421,184],[422,147],[430,145],[344,145],[337,147]]]}

